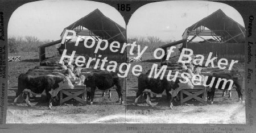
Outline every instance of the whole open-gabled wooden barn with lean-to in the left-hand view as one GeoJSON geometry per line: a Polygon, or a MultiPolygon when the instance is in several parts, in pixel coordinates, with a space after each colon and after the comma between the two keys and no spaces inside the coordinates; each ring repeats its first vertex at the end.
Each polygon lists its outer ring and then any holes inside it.
{"type": "Polygon", "coordinates": [[[106,50],[98,51],[97,54],[95,54],[94,50],[96,48],[96,45],[94,45],[94,47],[92,48],[86,48],[84,47],[84,40],[82,39],[79,41],[79,45],[75,46],[78,36],[85,36],[85,38],[92,37],[96,41],[96,44],[99,39],[108,40],[109,44],[113,41],[118,41],[121,45],[120,47],[122,47],[123,43],[125,43],[125,28],[115,23],[113,20],[109,19],[98,9],[77,20],[68,27],[65,27],[63,32],[61,32],[60,40],[39,46],[40,61],[46,59],[47,47],[61,43],[61,40],[63,39],[66,30],[75,31],[76,37],[72,40],[66,40],[64,44],[60,45],[60,47],[58,48],[60,55],[62,54],[64,49],[67,49],[67,55],[71,55],[72,51],[76,51],[76,55],[82,55],[87,57],[97,57],[97,55],[102,55],[102,58],[108,57],[108,60],[125,62],[125,52],[112,52],[108,47],[106,50]]]}

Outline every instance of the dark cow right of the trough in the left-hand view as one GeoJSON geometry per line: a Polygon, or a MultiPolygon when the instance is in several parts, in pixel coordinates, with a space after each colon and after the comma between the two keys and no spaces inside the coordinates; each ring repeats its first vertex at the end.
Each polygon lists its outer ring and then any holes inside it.
{"type": "Polygon", "coordinates": [[[123,78],[118,77],[117,73],[104,71],[104,72],[88,72],[88,73],[83,73],[83,75],[85,76],[84,84],[86,85],[86,87],[90,88],[90,92],[88,92],[88,97],[90,99],[89,105],[93,104],[96,87],[99,90],[106,91],[106,90],[110,90],[110,88],[112,88],[114,85],[117,87],[115,89],[117,90],[117,93],[118,93],[117,103],[121,102],[121,104],[123,104],[123,94],[122,94],[123,78]]]}

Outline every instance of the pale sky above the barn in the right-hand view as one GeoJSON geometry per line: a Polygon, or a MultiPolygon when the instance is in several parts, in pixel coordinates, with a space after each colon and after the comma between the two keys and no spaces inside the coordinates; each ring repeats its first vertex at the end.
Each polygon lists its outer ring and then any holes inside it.
{"type": "MultiPolygon", "coordinates": [[[[163,41],[181,40],[186,28],[221,9],[226,15],[245,26],[242,16],[224,3],[207,1],[165,1],[140,7],[127,24],[127,38],[157,36],[163,41]]],[[[195,39],[195,40],[201,40],[195,39]]]]}

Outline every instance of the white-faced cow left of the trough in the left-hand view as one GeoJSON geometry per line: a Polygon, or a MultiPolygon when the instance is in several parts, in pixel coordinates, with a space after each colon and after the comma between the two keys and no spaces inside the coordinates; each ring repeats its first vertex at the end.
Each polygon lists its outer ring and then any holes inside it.
{"type": "Polygon", "coordinates": [[[18,77],[18,92],[14,99],[16,105],[17,99],[21,96],[26,97],[25,101],[28,106],[31,106],[29,101],[29,91],[35,94],[41,94],[44,90],[47,95],[48,107],[52,109],[52,98],[63,88],[74,88],[68,77],[59,77],[55,75],[32,76],[30,74],[20,74],[18,77]]]}

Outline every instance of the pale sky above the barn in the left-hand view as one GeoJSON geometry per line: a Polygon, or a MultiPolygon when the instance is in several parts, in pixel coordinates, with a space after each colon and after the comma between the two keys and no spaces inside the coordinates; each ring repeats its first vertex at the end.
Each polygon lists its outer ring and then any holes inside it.
{"type": "Polygon", "coordinates": [[[65,27],[99,9],[125,28],[125,20],[114,7],[92,1],[38,1],[16,9],[8,24],[8,36],[36,36],[40,40],[59,40],[65,27]]]}

